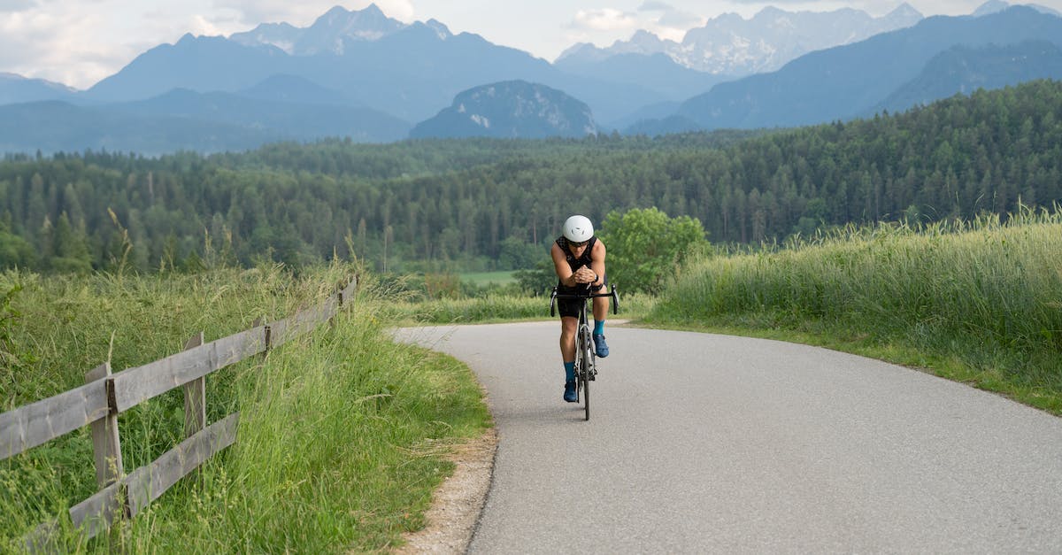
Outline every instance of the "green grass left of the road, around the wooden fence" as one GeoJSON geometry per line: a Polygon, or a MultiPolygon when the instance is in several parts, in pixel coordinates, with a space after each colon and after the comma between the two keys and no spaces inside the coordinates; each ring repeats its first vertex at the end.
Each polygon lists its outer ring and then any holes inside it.
{"type": "MultiPolygon", "coordinates": [[[[40,278],[0,274],[2,410],[81,385],[107,359],[116,371],[311,305],[349,273],[295,278],[278,268],[203,275],[40,278]]],[[[185,480],[114,538],[67,531],[61,550],[133,553],[380,551],[423,524],[432,489],[450,471],[447,447],[489,426],[468,370],[393,344],[380,302],[363,290],[335,326],[266,358],[207,379],[208,419],[240,410],[237,443],[185,480]]],[[[179,390],[119,420],[126,471],[181,439],[179,390]]],[[[96,491],[88,430],[0,461],[0,552],[96,491]]]]}

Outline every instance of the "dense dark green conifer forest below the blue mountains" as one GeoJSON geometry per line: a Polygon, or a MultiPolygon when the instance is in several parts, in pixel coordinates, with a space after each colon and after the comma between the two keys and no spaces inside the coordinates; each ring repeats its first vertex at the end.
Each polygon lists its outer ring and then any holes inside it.
{"type": "Polygon", "coordinates": [[[0,265],[87,271],[290,265],[533,266],[572,213],[657,207],[715,242],[1006,215],[1062,200],[1062,83],[772,131],[547,140],[349,140],[158,158],[8,154],[0,265]],[[353,252],[352,252],[353,251],[353,252]]]}

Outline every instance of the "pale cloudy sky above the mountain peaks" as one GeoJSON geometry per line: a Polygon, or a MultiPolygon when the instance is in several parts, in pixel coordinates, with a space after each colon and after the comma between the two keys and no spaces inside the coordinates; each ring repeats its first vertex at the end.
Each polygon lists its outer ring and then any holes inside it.
{"type": "MultiPolygon", "coordinates": [[[[969,14],[984,0],[909,0],[923,15],[969,14]]],[[[307,27],[335,5],[371,0],[0,0],[0,72],[88,88],[143,51],[185,33],[229,35],[258,23],[307,27]]],[[[674,40],[723,13],[749,18],[766,5],[884,15],[898,0],[377,0],[406,22],[438,19],[453,33],[526,50],[552,62],[576,43],[607,46],[647,29],[674,40]]],[[[1037,3],[1062,11],[1062,0],[1037,3]]]]}

